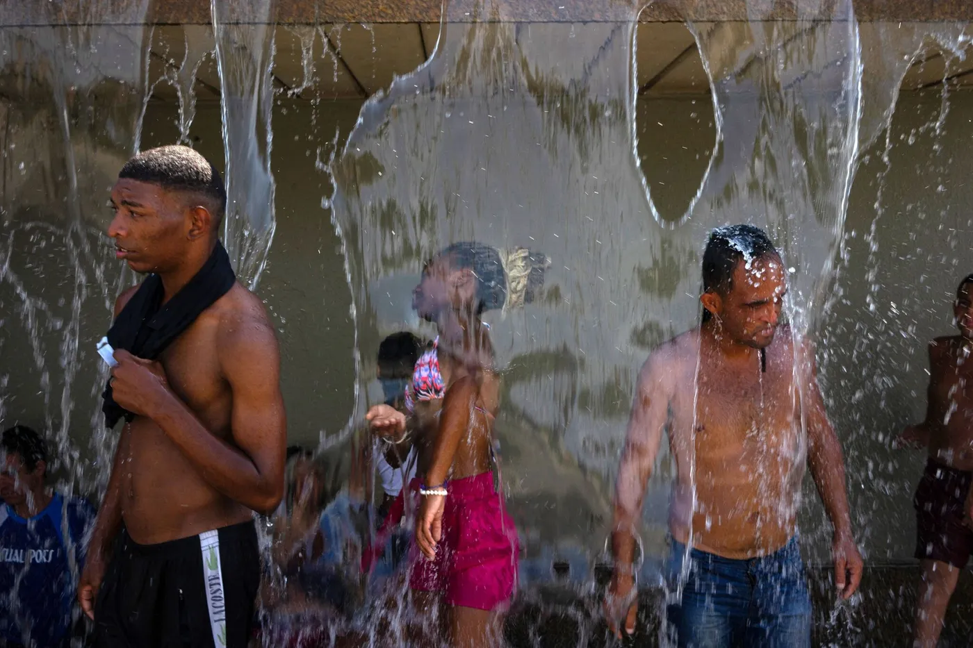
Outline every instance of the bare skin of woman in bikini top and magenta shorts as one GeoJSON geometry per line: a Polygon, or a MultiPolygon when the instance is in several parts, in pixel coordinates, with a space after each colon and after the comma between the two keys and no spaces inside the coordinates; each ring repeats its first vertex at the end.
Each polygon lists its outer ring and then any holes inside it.
{"type": "MultiPolygon", "coordinates": [[[[391,465],[417,451],[416,475],[427,486],[438,486],[486,473],[492,468],[490,441],[493,417],[499,407],[499,378],[492,372],[493,349],[486,327],[475,312],[475,276],[469,269],[457,269],[449,257],[437,257],[422,272],[415,287],[413,306],[420,317],[436,323],[439,331],[438,358],[446,385],[442,400],[416,401],[411,415],[379,405],[366,415],[378,436],[406,441],[386,453],[391,465]]],[[[435,558],[442,537],[446,498],[423,496],[416,514],[415,540],[425,558],[435,558]]],[[[435,607],[438,593],[414,592],[422,616],[435,607]]],[[[502,629],[498,612],[450,606],[440,621],[440,632],[452,646],[494,645],[502,629]]],[[[435,634],[435,633],[434,633],[435,634]]],[[[414,645],[438,645],[436,636],[416,625],[414,645]]]]}

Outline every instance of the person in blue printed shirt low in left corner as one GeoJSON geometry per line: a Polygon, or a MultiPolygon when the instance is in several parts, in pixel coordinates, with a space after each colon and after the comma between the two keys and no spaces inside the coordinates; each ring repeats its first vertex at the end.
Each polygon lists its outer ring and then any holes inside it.
{"type": "Polygon", "coordinates": [[[0,446],[0,645],[61,648],[94,508],[46,486],[48,454],[34,430],[15,425],[0,446]]]}

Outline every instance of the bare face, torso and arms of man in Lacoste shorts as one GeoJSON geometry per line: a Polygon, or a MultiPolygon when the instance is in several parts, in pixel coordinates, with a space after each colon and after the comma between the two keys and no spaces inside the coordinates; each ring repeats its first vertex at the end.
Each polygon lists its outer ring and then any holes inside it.
{"type": "MultiPolygon", "coordinates": [[[[170,299],[216,243],[212,208],[193,195],[121,179],[108,234],[117,257],[162,277],[170,299]]],[[[137,287],[123,293],[121,312],[137,287]]],[[[235,284],[156,362],[115,352],[115,400],[136,414],[124,426],[91,538],[79,598],[92,616],[122,524],[156,544],[245,522],[283,493],[286,421],[279,351],[261,301],[235,284]]]]}

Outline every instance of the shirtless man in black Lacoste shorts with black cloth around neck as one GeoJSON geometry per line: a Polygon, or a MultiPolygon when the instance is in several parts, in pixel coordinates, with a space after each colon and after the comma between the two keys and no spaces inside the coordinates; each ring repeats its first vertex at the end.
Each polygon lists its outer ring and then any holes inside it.
{"type": "Polygon", "coordinates": [[[116,257],[147,277],[108,332],[104,393],[125,419],[79,599],[98,648],[244,648],[260,585],[253,512],[284,490],[280,356],[261,301],[218,232],[227,195],[196,151],[126,162],[112,189],[116,257]]]}

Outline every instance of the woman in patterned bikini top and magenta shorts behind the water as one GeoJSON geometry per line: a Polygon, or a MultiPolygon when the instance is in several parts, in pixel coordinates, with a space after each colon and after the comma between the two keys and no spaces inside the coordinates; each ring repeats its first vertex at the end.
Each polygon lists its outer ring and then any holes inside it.
{"type": "Polygon", "coordinates": [[[502,643],[519,554],[517,530],[493,484],[499,377],[481,317],[532,301],[547,266],[543,255],[520,249],[501,256],[475,242],[436,255],[422,270],[413,306],[439,337],[415,363],[409,414],[378,405],[366,415],[402,454],[415,449],[417,477],[409,490],[420,502],[410,587],[424,618],[439,603],[447,606],[450,646],[502,643]]]}

